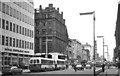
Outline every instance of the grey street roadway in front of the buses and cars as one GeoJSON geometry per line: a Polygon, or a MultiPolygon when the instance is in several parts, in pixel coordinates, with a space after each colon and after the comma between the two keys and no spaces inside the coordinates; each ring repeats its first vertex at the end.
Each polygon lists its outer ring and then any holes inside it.
{"type": "MultiPolygon", "coordinates": [[[[99,70],[101,68],[96,68],[96,70],[99,70]]],[[[58,70],[58,71],[49,71],[49,72],[31,72],[31,73],[23,73],[22,75],[7,75],[7,76],[46,76],[47,74],[49,75],[59,75],[59,76],[63,76],[63,75],[89,75],[92,76],[93,75],[93,69],[84,69],[83,71],[78,70],[77,72],[74,71],[74,69],[69,68],[69,69],[65,69],[65,70],[58,70]]]]}

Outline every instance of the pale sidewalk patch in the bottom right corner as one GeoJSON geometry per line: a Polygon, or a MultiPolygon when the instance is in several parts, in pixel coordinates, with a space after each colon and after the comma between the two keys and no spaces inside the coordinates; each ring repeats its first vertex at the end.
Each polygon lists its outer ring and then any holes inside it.
{"type": "Polygon", "coordinates": [[[114,68],[114,69],[106,69],[105,72],[100,73],[97,76],[117,76],[118,73],[118,69],[114,68]]]}

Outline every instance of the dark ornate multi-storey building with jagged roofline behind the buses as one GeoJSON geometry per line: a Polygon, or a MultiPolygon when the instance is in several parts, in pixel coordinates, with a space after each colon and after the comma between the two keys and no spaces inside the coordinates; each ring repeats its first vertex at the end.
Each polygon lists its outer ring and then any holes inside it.
{"type": "Polygon", "coordinates": [[[59,13],[49,4],[45,9],[40,5],[35,9],[35,53],[58,52],[67,54],[68,33],[63,19],[63,12],[59,13]]]}

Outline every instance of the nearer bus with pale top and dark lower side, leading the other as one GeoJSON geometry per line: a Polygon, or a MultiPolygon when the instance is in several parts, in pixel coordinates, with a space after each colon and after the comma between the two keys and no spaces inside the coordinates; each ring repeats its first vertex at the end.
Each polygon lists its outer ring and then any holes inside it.
{"type": "Polygon", "coordinates": [[[32,57],[29,60],[30,72],[55,70],[54,59],[32,57]]]}

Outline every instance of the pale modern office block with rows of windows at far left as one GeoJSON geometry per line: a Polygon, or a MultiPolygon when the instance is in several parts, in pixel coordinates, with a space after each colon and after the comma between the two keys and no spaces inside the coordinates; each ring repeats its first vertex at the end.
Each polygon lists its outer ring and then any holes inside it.
{"type": "Polygon", "coordinates": [[[0,65],[28,64],[34,55],[33,0],[0,0],[0,65]]]}

